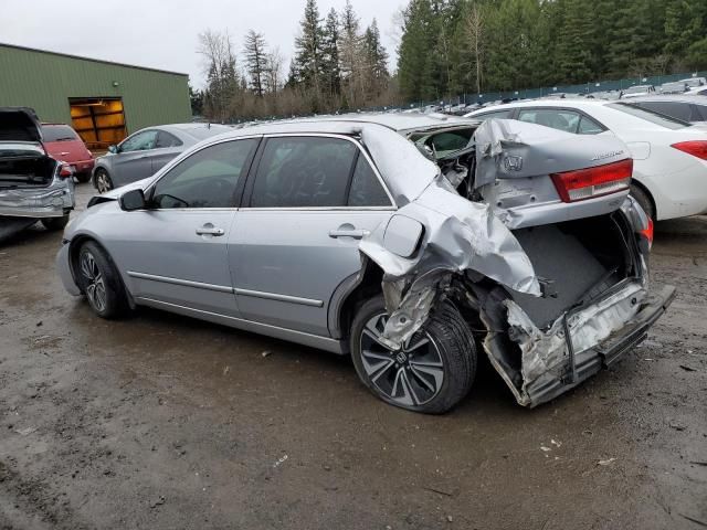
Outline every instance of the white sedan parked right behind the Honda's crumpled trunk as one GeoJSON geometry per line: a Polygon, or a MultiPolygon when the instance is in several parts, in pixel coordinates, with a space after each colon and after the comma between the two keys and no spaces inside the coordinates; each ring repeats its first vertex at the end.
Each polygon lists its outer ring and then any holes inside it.
{"type": "Polygon", "coordinates": [[[633,197],[655,220],[707,213],[707,129],[630,102],[516,102],[469,113],[508,118],[577,135],[613,135],[633,157],[633,197]]]}

